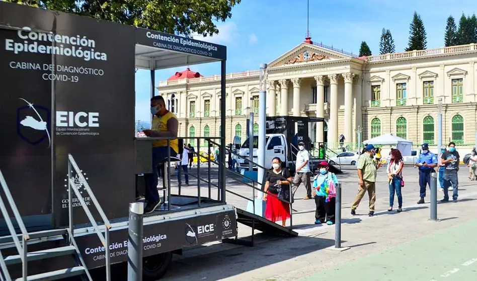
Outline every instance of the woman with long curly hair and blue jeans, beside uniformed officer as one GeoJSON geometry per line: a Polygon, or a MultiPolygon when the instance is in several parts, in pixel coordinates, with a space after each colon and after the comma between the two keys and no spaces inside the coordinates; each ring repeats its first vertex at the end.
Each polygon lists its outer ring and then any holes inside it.
{"type": "Polygon", "coordinates": [[[403,180],[404,161],[401,152],[397,149],[391,150],[389,163],[387,164],[387,179],[389,183],[389,212],[394,205],[394,193],[398,196],[398,213],[403,210],[403,194],[401,189],[404,186],[403,180]]]}

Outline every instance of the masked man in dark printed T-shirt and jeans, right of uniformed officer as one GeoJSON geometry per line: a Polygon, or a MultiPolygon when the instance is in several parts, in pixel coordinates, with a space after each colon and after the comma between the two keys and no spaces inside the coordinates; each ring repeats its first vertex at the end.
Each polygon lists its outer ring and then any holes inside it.
{"type": "Polygon", "coordinates": [[[459,171],[460,155],[455,149],[455,143],[449,143],[449,150],[442,154],[442,163],[445,164],[444,172],[444,198],[441,202],[449,201],[449,187],[452,185],[452,200],[457,202],[459,178],[457,172],[459,171]]]}

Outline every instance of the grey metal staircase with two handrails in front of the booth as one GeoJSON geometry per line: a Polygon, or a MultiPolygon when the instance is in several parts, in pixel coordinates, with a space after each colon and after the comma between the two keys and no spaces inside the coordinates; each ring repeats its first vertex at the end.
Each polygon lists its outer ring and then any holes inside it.
{"type": "MultiPolygon", "coordinates": [[[[68,199],[71,202],[72,194],[71,190],[76,194],[78,201],[81,203],[83,209],[85,210],[88,218],[90,219],[90,223],[93,225],[96,233],[100,237],[105,250],[106,250],[106,280],[111,280],[111,272],[110,272],[110,254],[109,254],[109,229],[111,225],[106,218],[103,210],[101,209],[96,197],[94,196],[93,192],[91,191],[88,182],[84,178],[83,174],[81,173],[80,168],[78,168],[76,162],[74,161],[71,155],[68,155],[68,199]],[[74,170],[75,174],[80,179],[81,184],[84,186],[84,189],[88,192],[88,195],[91,197],[93,203],[95,204],[98,213],[103,219],[105,225],[105,235],[103,235],[103,231],[101,231],[95,222],[93,215],[91,214],[88,206],[86,205],[83,197],[78,190],[77,183],[74,182],[72,177],[72,170],[74,170]]],[[[20,234],[17,234],[13,223],[12,218],[7,211],[6,204],[2,197],[0,196],[0,210],[2,215],[6,221],[7,227],[10,231],[9,236],[0,237],[0,245],[6,245],[2,247],[0,250],[0,280],[2,281],[27,281],[27,280],[58,280],[62,278],[72,277],[72,276],[81,276],[83,280],[92,280],[90,272],[88,271],[87,267],[85,266],[85,261],[81,255],[80,250],[78,249],[76,242],[74,241],[73,235],[73,217],[72,217],[72,206],[69,204],[69,227],[64,229],[52,229],[46,231],[39,231],[39,232],[32,232],[28,233],[25,225],[22,221],[22,217],[18,212],[17,205],[13,200],[12,194],[10,193],[10,189],[5,181],[5,177],[0,171],[0,185],[2,186],[2,190],[7,198],[8,204],[12,210],[13,217],[15,218],[19,229],[20,234]],[[51,241],[52,239],[57,239],[63,242],[64,246],[59,247],[51,247],[51,244],[46,243],[46,241],[51,241]],[[42,245],[43,244],[43,245],[42,245]],[[28,246],[34,245],[35,248],[41,248],[41,250],[36,251],[28,251],[28,246]],[[15,249],[16,248],[16,249],[15,249]],[[9,254],[4,257],[2,252],[10,251],[14,252],[16,250],[16,254],[9,254]],[[36,273],[32,275],[28,275],[28,264],[34,261],[44,260],[44,259],[51,259],[57,257],[70,257],[74,260],[74,265],[67,267],[67,268],[60,268],[51,271],[46,271],[42,273],[36,273]],[[16,274],[19,276],[13,276],[11,274],[11,267],[21,264],[21,274],[16,271],[16,274]],[[10,271],[9,271],[10,270],[10,271]],[[12,278],[13,276],[13,278],[12,278]]]]}

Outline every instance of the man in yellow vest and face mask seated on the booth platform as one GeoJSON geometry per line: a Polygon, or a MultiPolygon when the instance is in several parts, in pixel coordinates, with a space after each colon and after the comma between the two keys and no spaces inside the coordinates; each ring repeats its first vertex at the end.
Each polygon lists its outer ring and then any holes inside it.
{"type": "Polygon", "coordinates": [[[150,137],[171,137],[168,147],[168,140],[154,140],[152,142],[152,174],[144,174],[146,180],[145,199],[147,201],[144,214],[154,212],[155,208],[161,205],[161,198],[157,192],[157,165],[168,156],[175,157],[179,153],[179,140],[177,137],[178,120],[174,113],[166,109],[166,102],[162,96],[154,96],[150,102],[151,128],[144,130],[144,134],[150,137]]]}

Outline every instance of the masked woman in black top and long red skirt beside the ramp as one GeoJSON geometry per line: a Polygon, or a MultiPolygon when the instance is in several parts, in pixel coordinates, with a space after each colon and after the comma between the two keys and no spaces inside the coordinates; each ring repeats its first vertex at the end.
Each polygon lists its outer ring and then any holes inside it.
{"type": "Polygon", "coordinates": [[[272,169],[268,171],[263,200],[267,201],[265,218],[272,222],[282,221],[282,226],[290,218],[290,204],[281,201],[278,196],[279,186],[289,186],[291,174],[287,168],[282,168],[282,161],[275,157],[272,160],[272,169]]]}

